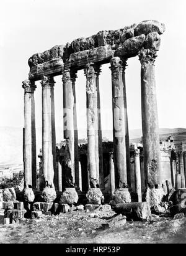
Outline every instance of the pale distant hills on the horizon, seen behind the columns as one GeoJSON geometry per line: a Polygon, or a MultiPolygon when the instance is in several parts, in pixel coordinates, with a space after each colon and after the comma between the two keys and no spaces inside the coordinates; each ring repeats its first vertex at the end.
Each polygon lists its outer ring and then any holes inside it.
{"type": "MultiPolygon", "coordinates": [[[[79,130],[79,138],[86,138],[86,130],[79,130]]],[[[177,140],[185,140],[185,128],[161,128],[159,133],[162,138],[169,135],[176,136],[177,140]]],[[[37,154],[42,147],[42,128],[37,128],[37,154]]],[[[102,136],[112,140],[112,130],[102,131],[102,136]]],[[[141,140],[140,129],[130,130],[130,140],[138,142],[141,140]]],[[[63,140],[63,128],[56,127],[56,142],[63,140]]],[[[0,127],[0,169],[22,164],[22,128],[0,127]]]]}

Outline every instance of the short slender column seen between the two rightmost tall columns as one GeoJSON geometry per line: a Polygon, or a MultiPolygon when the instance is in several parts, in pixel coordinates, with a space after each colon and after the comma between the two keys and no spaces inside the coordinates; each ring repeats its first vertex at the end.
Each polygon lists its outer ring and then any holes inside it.
{"type": "Polygon", "coordinates": [[[138,202],[142,202],[141,195],[141,170],[140,170],[140,150],[135,149],[135,180],[136,180],[136,194],[138,195],[138,202]]]}

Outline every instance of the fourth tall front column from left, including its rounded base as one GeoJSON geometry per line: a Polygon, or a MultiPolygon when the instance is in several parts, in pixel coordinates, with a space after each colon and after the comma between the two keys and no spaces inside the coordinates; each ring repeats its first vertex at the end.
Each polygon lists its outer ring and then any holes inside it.
{"type": "Polygon", "coordinates": [[[87,98],[87,171],[89,173],[89,191],[87,199],[90,204],[101,204],[104,196],[99,189],[99,143],[97,135],[97,87],[96,74],[92,64],[84,68],[86,75],[86,98],[87,98]]]}

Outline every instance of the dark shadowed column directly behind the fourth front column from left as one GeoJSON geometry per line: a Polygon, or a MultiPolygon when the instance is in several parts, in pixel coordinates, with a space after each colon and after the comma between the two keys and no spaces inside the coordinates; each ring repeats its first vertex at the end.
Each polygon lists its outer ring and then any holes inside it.
{"type": "Polygon", "coordinates": [[[98,153],[98,162],[97,163],[97,178],[99,180],[100,188],[104,189],[104,163],[103,163],[103,149],[102,149],[102,126],[100,118],[100,92],[99,92],[99,75],[100,75],[100,65],[94,65],[94,70],[96,74],[95,78],[95,87],[97,89],[97,105],[95,100],[95,108],[97,108],[97,136],[95,136],[95,143],[98,147],[98,151],[95,151],[95,154],[98,153]]]}

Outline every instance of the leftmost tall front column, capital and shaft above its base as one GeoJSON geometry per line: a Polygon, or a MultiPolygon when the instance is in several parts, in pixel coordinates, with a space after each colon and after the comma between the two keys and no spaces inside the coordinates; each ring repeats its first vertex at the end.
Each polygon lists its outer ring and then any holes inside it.
{"type": "Polygon", "coordinates": [[[25,186],[36,187],[36,145],[35,145],[35,83],[25,80],[24,93],[24,176],[25,186]],[[32,173],[33,172],[33,173],[32,173]]]}

